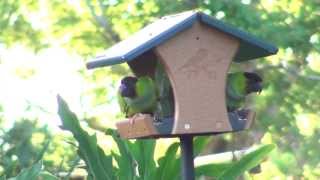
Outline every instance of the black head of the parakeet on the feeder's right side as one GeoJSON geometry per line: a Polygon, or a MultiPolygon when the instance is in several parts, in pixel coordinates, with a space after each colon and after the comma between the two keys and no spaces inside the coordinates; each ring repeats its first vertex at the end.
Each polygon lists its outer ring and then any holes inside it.
{"type": "Polygon", "coordinates": [[[244,72],[244,76],[247,81],[246,92],[248,94],[252,92],[261,93],[262,78],[257,73],[253,73],[253,72],[244,72]]]}

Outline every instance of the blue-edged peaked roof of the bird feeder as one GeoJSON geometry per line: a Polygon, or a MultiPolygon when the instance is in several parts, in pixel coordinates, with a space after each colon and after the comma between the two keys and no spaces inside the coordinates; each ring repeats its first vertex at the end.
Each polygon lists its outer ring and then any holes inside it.
{"type": "Polygon", "coordinates": [[[272,44],[211,16],[202,12],[188,11],[154,21],[129,38],[115,44],[104,54],[97,56],[93,61],[87,63],[87,67],[93,69],[131,61],[177,33],[190,28],[196,21],[239,39],[240,47],[234,57],[236,62],[265,57],[278,51],[272,44]]]}

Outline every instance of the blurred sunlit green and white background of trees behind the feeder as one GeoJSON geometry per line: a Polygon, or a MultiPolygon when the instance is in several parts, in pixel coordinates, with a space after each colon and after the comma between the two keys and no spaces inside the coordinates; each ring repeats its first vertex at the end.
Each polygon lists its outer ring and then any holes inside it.
{"type": "MultiPolygon", "coordinates": [[[[241,64],[264,77],[250,99],[248,132],[216,136],[206,153],[276,144],[253,179],[320,178],[320,1],[318,0],[0,0],[0,175],[29,166],[44,146],[52,173],[78,161],[59,128],[59,93],[95,129],[121,118],[116,102],[126,65],[88,71],[85,63],[153,20],[198,9],[279,47],[277,55],[241,64]],[[49,143],[50,142],[50,143],[49,143]]],[[[157,151],[170,143],[160,140],[157,151]]],[[[107,151],[107,150],[106,150],[107,151]]]]}

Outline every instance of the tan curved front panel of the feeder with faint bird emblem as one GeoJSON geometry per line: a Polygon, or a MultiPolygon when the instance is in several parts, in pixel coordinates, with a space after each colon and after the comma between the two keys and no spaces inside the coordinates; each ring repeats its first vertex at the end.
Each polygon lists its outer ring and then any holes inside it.
{"type": "Polygon", "coordinates": [[[239,41],[195,22],[156,48],[175,96],[173,134],[232,131],[225,82],[239,41]]]}

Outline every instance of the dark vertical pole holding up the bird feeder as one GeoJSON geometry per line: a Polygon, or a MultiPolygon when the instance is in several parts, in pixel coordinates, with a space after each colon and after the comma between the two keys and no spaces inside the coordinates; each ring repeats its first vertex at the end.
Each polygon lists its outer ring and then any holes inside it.
{"type": "Polygon", "coordinates": [[[182,180],[194,180],[193,136],[180,136],[182,180]]]}

